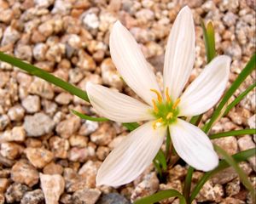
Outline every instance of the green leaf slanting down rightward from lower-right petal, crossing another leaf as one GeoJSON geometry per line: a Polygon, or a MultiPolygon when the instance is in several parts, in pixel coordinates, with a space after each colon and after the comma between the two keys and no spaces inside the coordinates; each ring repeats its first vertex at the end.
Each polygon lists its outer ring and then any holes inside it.
{"type": "MultiPolygon", "coordinates": [[[[237,162],[234,160],[232,156],[230,156],[225,150],[221,149],[218,145],[214,145],[214,149],[223,156],[224,160],[227,161],[230,167],[233,167],[241,179],[241,183],[251,192],[251,195],[255,195],[255,191],[253,185],[247,178],[247,174],[238,166],[237,162]]],[[[253,196],[254,197],[254,196],[253,196]]]]}

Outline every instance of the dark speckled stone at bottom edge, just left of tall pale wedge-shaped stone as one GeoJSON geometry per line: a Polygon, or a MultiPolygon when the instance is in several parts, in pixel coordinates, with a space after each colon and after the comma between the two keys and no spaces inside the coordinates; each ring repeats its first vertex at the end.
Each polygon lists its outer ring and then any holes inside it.
{"type": "Polygon", "coordinates": [[[44,193],[42,190],[28,191],[23,195],[20,204],[40,204],[44,201],[44,193]]]}

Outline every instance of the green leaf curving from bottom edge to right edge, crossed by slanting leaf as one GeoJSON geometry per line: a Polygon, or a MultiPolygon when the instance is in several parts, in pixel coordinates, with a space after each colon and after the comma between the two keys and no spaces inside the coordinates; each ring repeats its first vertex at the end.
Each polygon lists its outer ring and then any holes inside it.
{"type": "MultiPolygon", "coordinates": [[[[256,148],[253,148],[250,150],[244,150],[239,153],[236,153],[235,155],[232,156],[232,158],[236,162],[245,161],[249,157],[254,156],[255,151],[256,151],[256,148]]],[[[221,170],[225,169],[226,167],[230,167],[229,163],[227,161],[222,160],[222,161],[219,161],[218,167],[213,169],[211,172],[205,173],[202,176],[202,178],[198,181],[198,183],[195,185],[195,188],[192,191],[190,196],[190,202],[192,202],[195,199],[195,196],[199,193],[199,191],[201,190],[201,187],[207,182],[209,178],[211,178],[215,173],[218,173],[221,170]]]]}

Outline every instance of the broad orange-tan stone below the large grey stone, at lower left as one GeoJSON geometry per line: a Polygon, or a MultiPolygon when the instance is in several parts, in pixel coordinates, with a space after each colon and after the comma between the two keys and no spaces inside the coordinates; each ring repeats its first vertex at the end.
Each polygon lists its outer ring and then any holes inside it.
{"type": "Polygon", "coordinates": [[[27,159],[34,167],[43,168],[53,159],[53,153],[43,148],[28,147],[25,150],[27,159]]]}

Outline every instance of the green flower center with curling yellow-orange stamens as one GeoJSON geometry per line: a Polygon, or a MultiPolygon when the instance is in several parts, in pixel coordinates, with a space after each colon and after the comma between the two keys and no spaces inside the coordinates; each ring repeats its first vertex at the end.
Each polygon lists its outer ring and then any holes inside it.
{"type": "Polygon", "coordinates": [[[172,124],[173,122],[176,122],[177,115],[178,115],[178,108],[177,105],[180,102],[180,99],[177,99],[176,101],[172,101],[169,90],[166,88],[166,99],[163,100],[161,94],[155,90],[150,89],[150,91],[154,92],[157,96],[157,100],[152,99],[154,110],[152,111],[153,116],[156,118],[156,120],[153,123],[154,129],[156,127],[160,126],[167,126],[172,124]]]}

